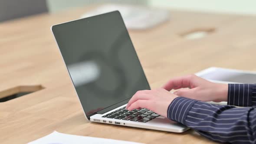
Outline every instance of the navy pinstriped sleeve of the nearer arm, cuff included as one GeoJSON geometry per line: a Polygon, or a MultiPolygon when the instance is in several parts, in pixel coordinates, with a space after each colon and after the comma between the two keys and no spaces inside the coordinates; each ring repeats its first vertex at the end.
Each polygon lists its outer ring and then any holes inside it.
{"type": "Polygon", "coordinates": [[[177,97],[167,109],[167,117],[193,128],[210,140],[231,144],[256,143],[256,109],[213,105],[177,97]]]}

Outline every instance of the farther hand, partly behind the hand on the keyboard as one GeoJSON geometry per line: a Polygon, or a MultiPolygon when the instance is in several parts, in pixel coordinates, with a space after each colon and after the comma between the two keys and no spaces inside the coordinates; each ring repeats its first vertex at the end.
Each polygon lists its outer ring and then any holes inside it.
{"type": "Polygon", "coordinates": [[[187,75],[169,80],[164,89],[180,89],[174,92],[175,95],[196,99],[199,101],[227,101],[228,85],[209,82],[197,75],[187,75]]]}

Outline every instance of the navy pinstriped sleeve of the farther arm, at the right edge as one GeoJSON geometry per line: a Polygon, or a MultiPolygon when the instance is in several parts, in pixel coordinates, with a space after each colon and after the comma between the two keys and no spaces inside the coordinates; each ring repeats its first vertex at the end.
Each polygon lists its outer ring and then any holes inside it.
{"type": "Polygon", "coordinates": [[[256,106],[256,85],[228,84],[228,105],[240,107],[256,106]]]}

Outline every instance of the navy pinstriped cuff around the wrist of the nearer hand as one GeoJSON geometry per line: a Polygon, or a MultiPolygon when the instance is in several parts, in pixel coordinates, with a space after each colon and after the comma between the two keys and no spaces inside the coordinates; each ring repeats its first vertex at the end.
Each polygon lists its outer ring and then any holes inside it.
{"type": "Polygon", "coordinates": [[[185,124],[185,119],[187,118],[188,112],[196,102],[197,100],[190,98],[174,98],[167,109],[167,117],[172,121],[185,124]]]}

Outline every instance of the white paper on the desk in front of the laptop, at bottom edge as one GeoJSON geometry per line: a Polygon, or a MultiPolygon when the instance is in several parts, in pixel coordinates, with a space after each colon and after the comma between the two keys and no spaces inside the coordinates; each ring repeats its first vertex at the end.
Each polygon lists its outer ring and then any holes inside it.
{"type": "Polygon", "coordinates": [[[72,134],[63,134],[57,131],[39,138],[28,144],[141,144],[130,141],[119,141],[98,137],[85,137],[72,134]]]}

